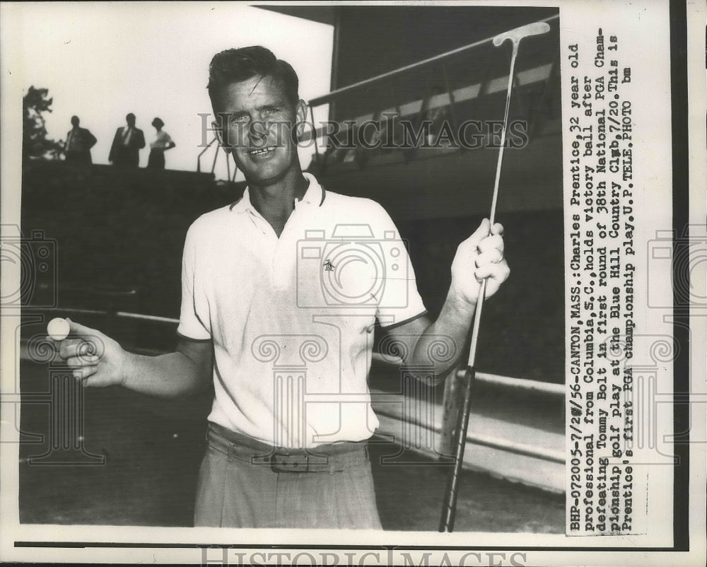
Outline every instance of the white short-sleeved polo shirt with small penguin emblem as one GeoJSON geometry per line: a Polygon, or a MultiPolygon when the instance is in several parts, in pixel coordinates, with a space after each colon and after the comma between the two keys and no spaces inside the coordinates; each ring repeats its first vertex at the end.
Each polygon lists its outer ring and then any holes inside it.
{"type": "Polygon", "coordinates": [[[192,224],[177,329],[214,341],[209,421],[288,448],[369,438],[375,319],[389,327],[426,313],[382,206],[304,175],[280,238],[248,189],[192,224]]]}

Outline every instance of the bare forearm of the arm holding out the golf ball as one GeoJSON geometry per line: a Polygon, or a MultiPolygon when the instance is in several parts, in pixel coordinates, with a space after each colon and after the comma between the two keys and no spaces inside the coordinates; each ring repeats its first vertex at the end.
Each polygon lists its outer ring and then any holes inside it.
{"type": "Polygon", "coordinates": [[[178,398],[206,387],[211,373],[185,353],[142,356],[127,353],[124,387],[148,396],[178,398]]]}

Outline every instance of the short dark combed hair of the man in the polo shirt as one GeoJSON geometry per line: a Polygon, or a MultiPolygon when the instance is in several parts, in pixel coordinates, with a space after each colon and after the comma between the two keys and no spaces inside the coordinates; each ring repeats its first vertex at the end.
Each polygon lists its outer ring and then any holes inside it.
{"type": "Polygon", "coordinates": [[[253,45],[240,49],[226,49],[214,55],[209,65],[209,98],[214,107],[218,91],[232,83],[247,81],[252,77],[271,77],[282,81],[287,99],[296,105],[299,79],[292,66],[282,59],[277,59],[266,47],[253,45]]]}

